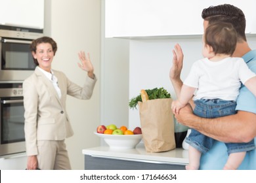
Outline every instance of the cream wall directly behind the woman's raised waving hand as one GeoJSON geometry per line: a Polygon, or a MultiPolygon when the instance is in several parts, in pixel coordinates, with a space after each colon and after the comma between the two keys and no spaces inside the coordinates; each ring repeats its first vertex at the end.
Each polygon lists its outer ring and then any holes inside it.
{"type": "Polygon", "coordinates": [[[82,86],[86,73],[77,66],[77,53],[84,50],[90,53],[98,77],[90,100],[66,101],[75,133],[66,140],[72,169],[84,169],[82,149],[100,144],[93,134],[100,124],[100,0],[45,0],[44,33],[58,44],[53,69],[82,86]]]}

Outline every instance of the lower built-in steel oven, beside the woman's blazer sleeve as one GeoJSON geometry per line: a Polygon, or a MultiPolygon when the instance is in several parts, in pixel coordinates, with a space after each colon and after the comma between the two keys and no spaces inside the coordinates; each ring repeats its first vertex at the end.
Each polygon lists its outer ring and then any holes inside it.
{"type": "Polygon", "coordinates": [[[25,152],[22,82],[0,82],[0,156],[25,152]]]}

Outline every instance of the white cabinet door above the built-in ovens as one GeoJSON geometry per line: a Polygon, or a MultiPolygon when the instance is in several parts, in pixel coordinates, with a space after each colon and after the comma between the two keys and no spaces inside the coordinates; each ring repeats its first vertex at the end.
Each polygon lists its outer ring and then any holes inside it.
{"type": "Polygon", "coordinates": [[[0,24],[43,29],[44,0],[0,0],[0,24]]]}

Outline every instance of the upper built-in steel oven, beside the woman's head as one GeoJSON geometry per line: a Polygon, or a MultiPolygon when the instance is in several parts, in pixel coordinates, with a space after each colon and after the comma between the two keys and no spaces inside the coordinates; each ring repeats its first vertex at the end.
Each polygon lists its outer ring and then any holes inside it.
{"type": "Polygon", "coordinates": [[[33,73],[30,44],[43,36],[43,29],[0,25],[0,80],[24,80],[33,73]]]}

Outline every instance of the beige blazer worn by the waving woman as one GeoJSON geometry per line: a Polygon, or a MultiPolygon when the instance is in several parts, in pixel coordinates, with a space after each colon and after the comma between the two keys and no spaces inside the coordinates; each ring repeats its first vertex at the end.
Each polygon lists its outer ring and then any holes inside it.
{"type": "Polygon", "coordinates": [[[66,112],[66,96],[77,99],[90,99],[96,78],[86,76],[81,88],[74,84],[64,73],[54,71],[58,78],[61,98],[52,82],[38,69],[23,82],[24,118],[26,152],[28,156],[37,155],[37,141],[60,141],[73,135],[70,120],[66,112]]]}

